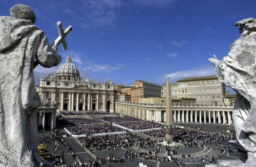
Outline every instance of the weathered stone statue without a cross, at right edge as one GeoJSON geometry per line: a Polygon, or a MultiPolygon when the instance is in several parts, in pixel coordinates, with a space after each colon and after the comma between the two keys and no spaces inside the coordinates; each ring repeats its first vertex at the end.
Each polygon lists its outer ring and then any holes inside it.
{"type": "Polygon", "coordinates": [[[256,19],[238,21],[242,36],[230,46],[227,57],[209,61],[219,80],[237,92],[233,124],[239,143],[248,151],[245,166],[256,166],[256,19]]]}

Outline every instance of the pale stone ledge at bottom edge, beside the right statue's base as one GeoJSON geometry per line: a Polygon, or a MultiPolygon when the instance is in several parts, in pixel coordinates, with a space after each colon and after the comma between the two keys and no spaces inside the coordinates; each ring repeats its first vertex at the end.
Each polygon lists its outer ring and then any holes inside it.
{"type": "Polygon", "coordinates": [[[244,167],[239,159],[218,159],[217,164],[206,164],[205,167],[244,167]]]}

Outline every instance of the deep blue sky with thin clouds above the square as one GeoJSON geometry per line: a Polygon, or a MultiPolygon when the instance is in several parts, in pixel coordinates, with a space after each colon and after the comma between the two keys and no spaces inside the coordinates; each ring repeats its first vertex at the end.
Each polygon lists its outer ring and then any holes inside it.
{"type": "MultiPolygon", "coordinates": [[[[70,52],[80,75],[111,78],[129,86],[135,80],[165,84],[185,77],[217,75],[208,61],[223,59],[240,37],[234,23],[255,17],[256,1],[73,0],[0,1],[0,15],[15,4],[30,6],[35,25],[49,43],[58,37],[56,22],[73,26],[68,49],[58,47],[62,63],[70,52]]],[[[57,67],[35,69],[35,83],[57,67]]]]}

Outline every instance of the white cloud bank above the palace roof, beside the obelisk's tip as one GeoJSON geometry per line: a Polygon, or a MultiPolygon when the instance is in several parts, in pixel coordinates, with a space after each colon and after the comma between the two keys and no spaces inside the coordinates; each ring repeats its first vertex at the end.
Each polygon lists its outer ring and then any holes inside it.
{"type": "MultiPolygon", "coordinates": [[[[189,78],[189,77],[198,77],[198,76],[216,76],[215,67],[212,65],[201,66],[199,68],[183,70],[183,71],[176,71],[169,74],[170,80],[172,82],[176,82],[179,79],[189,78]]],[[[158,80],[166,81],[167,74],[164,74],[159,77],[158,80]]]]}

